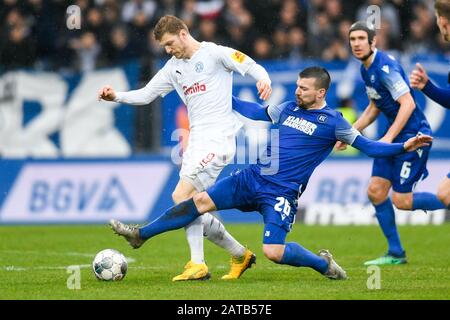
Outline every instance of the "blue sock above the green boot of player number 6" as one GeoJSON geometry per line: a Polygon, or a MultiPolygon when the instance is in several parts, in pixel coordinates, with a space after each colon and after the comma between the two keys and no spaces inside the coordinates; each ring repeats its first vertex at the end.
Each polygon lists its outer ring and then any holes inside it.
{"type": "Polygon", "coordinates": [[[395,224],[395,212],[390,198],[387,198],[385,202],[374,205],[375,216],[378,219],[381,230],[383,230],[384,236],[388,240],[389,251],[388,253],[396,256],[403,257],[405,251],[400,243],[400,237],[398,235],[397,226],[395,224]]]}

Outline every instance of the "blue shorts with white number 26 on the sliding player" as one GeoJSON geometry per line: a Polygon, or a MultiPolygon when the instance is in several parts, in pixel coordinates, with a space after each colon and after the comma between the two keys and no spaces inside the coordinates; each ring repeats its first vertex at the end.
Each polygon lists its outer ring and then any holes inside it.
{"type": "MultiPolygon", "coordinates": [[[[265,180],[252,167],[234,172],[229,177],[219,180],[206,192],[214,201],[217,210],[259,211],[266,225],[265,231],[267,228],[272,228],[268,226],[272,224],[281,227],[287,234],[295,222],[298,192],[265,180]]],[[[264,243],[266,241],[270,243],[270,239],[266,238],[271,237],[275,242],[283,239],[284,243],[286,234],[283,237],[279,231],[271,231],[272,236],[264,237],[264,243]]]]}

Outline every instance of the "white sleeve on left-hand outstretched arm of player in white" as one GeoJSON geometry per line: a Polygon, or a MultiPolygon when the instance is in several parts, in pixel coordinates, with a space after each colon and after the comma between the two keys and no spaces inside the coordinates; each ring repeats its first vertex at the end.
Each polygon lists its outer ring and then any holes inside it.
{"type": "Polygon", "coordinates": [[[158,96],[164,97],[174,90],[170,79],[170,61],[159,70],[147,85],[139,90],[117,92],[115,102],[133,105],[145,105],[155,100],[158,96]]]}

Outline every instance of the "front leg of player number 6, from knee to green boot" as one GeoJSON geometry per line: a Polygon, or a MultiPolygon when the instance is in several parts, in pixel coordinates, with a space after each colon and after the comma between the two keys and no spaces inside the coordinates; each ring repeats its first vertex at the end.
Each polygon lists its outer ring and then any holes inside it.
{"type": "Polygon", "coordinates": [[[377,259],[366,261],[364,265],[384,265],[406,263],[405,250],[395,223],[395,211],[391,199],[387,196],[391,182],[381,177],[372,177],[368,188],[368,196],[375,207],[375,216],[388,241],[388,252],[377,259]]]}

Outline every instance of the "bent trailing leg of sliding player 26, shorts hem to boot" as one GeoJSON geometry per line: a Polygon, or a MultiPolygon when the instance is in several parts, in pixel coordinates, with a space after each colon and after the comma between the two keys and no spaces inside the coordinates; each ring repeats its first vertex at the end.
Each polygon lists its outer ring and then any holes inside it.
{"type": "Polygon", "coordinates": [[[316,255],[296,242],[285,243],[288,231],[281,226],[267,223],[264,228],[264,255],[278,264],[294,267],[309,267],[334,280],[347,279],[347,274],[328,250],[316,255]]]}

